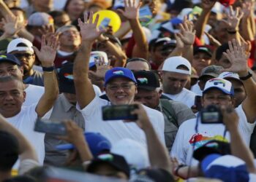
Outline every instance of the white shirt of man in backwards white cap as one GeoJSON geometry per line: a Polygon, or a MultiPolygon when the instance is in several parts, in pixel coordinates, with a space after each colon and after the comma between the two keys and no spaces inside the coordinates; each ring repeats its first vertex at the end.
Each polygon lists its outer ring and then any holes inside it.
{"type": "Polygon", "coordinates": [[[167,93],[163,93],[163,95],[167,96],[168,98],[176,101],[180,101],[181,103],[186,104],[189,108],[191,108],[195,104],[195,93],[183,88],[180,93],[176,95],[171,95],[167,93]]]}

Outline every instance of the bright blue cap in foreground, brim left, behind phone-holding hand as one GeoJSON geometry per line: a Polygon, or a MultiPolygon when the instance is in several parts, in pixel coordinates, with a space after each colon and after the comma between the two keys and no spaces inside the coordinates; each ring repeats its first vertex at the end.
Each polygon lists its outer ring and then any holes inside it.
{"type": "MultiPolygon", "coordinates": [[[[84,137],[89,145],[89,149],[94,157],[97,157],[98,154],[102,153],[103,151],[110,151],[111,143],[108,138],[101,135],[99,132],[85,132],[84,137]]],[[[56,146],[58,150],[69,150],[75,149],[75,146],[71,143],[62,144],[56,146]]]]}

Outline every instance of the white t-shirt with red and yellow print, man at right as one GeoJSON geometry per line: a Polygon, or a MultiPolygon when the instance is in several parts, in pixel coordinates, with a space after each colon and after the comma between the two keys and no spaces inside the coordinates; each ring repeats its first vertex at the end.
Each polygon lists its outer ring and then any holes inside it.
{"type": "MultiPolygon", "coordinates": [[[[241,136],[247,146],[249,146],[250,137],[252,135],[255,123],[251,124],[247,122],[246,115],[244,114],[242,106],[236,108],[236,112],[239,116],[238,129],[241,136]]],[[[183,122],[178,128],[173,148],[170,151],[171,157],[176,157],[179,162],[186,165],[197,165],[197,160],[192,159],[193,146],[197,149],[203,146],[204,143],[210,140],[225,140],[230,141],[230,134],[227,132],[225,138],[223,134],[225,132],[224,124],[202,124],[200,118],[198,119],[198,132],[195,132],[195,125],[197,119],[189,119],[183,122]],[[190,160],[192,159],[192,163],[190,160]]]]}

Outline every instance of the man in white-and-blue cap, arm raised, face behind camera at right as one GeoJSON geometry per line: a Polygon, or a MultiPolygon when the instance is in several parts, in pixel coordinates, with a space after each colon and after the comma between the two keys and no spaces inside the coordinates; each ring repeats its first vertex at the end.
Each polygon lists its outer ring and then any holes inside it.
{"type": "MultiPolygon", "coordinates": [[[[233,45],[230,43],[230,50],[225,55],[232,63],[232,66],[225,69],[225,71],[237,72],[246,90],[246,98],[236,108],[236,112],[239,116],[238,130],[249,146],[250,136],[256,120],[256,84],[252,79],[252,74],[248,72],[248,55],[244,51],[244,46],[239,46],[238,42],[234,40],[233,45]],[[233,47],[236,47],[236,49],[233,47]]],[[[206,108],[210,105],[234,108],[234,90],[231,82],[221,78],[210,79],[206,82],[203,90],[202,106],[206,108]]],[[[178,129],[170,155],[177,157],[182,163],[191,165],[193,149],[197,149],[212,139],[229,141],[229,133],[227,132],[227,135],[224,135],[224,133],[225,126],[223,124],[202,124],[200,117],[187,120],[178,129]]],[[[195,161],[193,163],[195,164],[195,161]]]]}

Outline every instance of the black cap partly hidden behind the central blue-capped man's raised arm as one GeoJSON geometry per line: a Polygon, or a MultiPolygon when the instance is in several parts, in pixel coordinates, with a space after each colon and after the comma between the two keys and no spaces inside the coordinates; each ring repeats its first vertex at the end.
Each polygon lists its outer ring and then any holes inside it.
{"type": "Polygon", "coordinates": [[[66,63],[59,70],[59,91],[75,94],[73,63],[66,63]]]}

